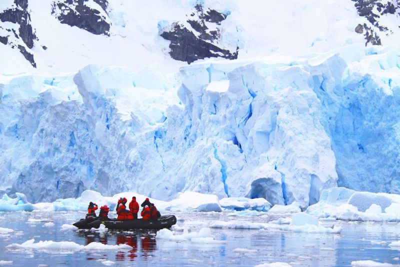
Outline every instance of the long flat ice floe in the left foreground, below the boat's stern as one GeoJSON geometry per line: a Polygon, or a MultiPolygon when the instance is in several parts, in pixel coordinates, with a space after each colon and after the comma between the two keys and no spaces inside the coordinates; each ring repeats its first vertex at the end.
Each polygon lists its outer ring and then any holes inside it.
{"type": "Polygon", "coordinates": [[[130,250],[131,246],[127,244],[107,245],[98,242],[91,242],[87,245],[80,245],[70,241],[39,241],[34,239],[27,240],[22,244],[13,243],[6,246],[7,249],[37,249],[45,252],[74,252],[79,250],[130,250]]]}

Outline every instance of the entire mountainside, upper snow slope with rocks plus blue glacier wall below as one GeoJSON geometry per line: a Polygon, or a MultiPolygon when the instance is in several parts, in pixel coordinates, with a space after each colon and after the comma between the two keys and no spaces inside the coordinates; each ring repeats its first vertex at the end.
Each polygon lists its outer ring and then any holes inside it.
{"type": "Polygon", "coordinates": [[[336,185],[398,193],[400,50],[386,47],[398,12],[392,1],[2,1],[0,192],[192,190],[301,207],[336,185]]]}

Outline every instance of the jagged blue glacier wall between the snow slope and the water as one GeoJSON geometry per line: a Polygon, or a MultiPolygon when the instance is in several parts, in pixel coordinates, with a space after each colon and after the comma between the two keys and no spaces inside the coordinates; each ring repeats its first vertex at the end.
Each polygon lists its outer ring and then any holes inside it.
{"type": "Polygon", "coordinates": [[[0,192],[38,202],[190,190],[302,208],[336,185],[398,193],[399,56],[350,46],[168,76],[1,76],[0,192]]]}

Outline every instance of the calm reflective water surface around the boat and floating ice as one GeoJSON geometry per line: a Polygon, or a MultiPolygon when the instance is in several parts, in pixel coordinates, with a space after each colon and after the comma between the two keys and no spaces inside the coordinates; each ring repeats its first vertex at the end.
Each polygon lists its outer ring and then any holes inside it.
{"type": "MultiPolygon", "coordinates": [[[[249,220],[267,222],[272,218],[229,216],[227,213],[176,213],[178,225],[198,231],[213,220],[249,220]]],[[[354,223],[338,221],[341,234],[294,233],[267,230],[211,229],[214,238],[226,240],[223,245],[193,244],[154,238],[155,231],[90,231],[64,230],[64,223],[72,223],[84,212],[0,212],[0,227],[15,230],[10,236],[0,236],[0,260],[12,260],[14,266],[105,266],[99,259],[114,261],[112,266],[130,265],[240,265],[254,266],[264,262],[283,261],[293,266],[349,266],[353,260],[371,259],[399,264],[400,250],[390,249],[388,243],[400,240],[397,223],[354,223]],[[27,223],[29,218],[47,218],[44,222],[27,223]],[[5,248],[11,243],[22,243],[31,238],[39,240],[73,241],[86,245],[126,243],[130,251],[80,251],[74,253],[15,251],[5,248]],[[386,243],[371,243],[385,241],[386,243]],[[235,248],[256,249],[256,253],[237,254],[235,248]]],[[[276,217],[275,217],[276,218],[276,217]]],[[[275,219],[273,218],[273,219],[275,219]]],[[[328,222],[327,224],[332,224],[328,222]]]]}

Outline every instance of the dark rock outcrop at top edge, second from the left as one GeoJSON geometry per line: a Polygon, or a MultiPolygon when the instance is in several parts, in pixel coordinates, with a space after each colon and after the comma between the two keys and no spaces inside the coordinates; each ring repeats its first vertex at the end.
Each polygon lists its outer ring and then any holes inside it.
{"type": "Polygon", "coordinates": [[[61,0],[54,1],[51,14],[60,23],[76,26],[95,35],[109,36],[110,20],[107,15],[107,0],[61,0]]]}

